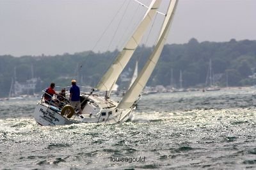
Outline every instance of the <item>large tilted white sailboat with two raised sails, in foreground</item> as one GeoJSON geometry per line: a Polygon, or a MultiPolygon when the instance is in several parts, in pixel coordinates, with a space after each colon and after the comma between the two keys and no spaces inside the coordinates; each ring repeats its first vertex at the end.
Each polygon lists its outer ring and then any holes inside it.
{"type": "Polygon", "coordinates": [[[178,1],[179,0],[170,1],[168,10],[164,15],[163,25],[159,37],[157,38],[156,46],[148,58],[147,63],[145,63],[143,69],[120,102],[116,102],[110,98],[113,85],[116,83],[120,73],[131,59],[134,50],[138,47],[138,43],[141,42],[147,27],[153,21],[161,0],[153,0],[150,3],[147,7],[147,12],[131,38],[126,43],[124,49],[118,54],[108,71],[103,75],[102,79],[100,79],[99,83],[94,88],[99,91],[106,91],[105,97],[93,93],[94,89],[90,93],[81,93],[80,100],[82,114],[76,114],[77,111],[68,104],[68,100],[63,104],[64,106],[60,108],[56,105],[45,103],[44,98],[42,97],[40,102],[36,105],[34,112],[36,122],[44,126],[53,126],[70,125],[72,123],[113,124],[129,120],[132,116],[132,111],[136,109],[136,104],[140,101],[141,91],[147,84],[147,81],[157,64],[159,56],[161,55],[178,1]]]}

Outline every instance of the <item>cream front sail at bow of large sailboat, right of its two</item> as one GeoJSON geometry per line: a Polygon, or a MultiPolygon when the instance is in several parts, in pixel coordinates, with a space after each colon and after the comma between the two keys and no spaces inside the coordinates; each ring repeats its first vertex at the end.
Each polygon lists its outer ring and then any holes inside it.
{"type": "Polygon", "coordinates": [[[118,108],[125,109],[131,107],[140,95],[145,85],[147,84],[147,81],[151,73],[153,72],[159,56],[161,55],[161,52],[163,50],[177,3],[178,0],[172,0],[170,2],[156,47],[152,52],[152,55],[148,59],[147,63],[141,70],[140,74],[138,75],[137,79],[135,80],[134,84],[132,84],[131,88],[127,91],[127,93],[125,93],[124,98],[122,98],[121,102],[118,104],[118,108]]]}

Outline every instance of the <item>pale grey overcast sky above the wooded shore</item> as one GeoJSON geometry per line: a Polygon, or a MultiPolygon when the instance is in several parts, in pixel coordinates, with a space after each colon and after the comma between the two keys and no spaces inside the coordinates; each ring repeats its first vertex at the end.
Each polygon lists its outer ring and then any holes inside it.
{"type": "MultiPolygon", "coordinates": [[[[159,10],[164,12],[167,4],[168,0],[163,0],[159,10]]],[[[113,39],[112,45],[111,37],[122,38],[124,31],[116,32],[115,27],[109,27],[99,38],[113,16],[119,16],[113,23],[120,23],[125,10],[138,19],[145,12],[133,0],[0,0],[0,55],[113,50],[119,40],[113,39]],[[127,4],[131,7],[126,9],[127,4]]],[[[131,20],[122,20],[128,24],[122,22],[124,27],[128,27],[131,20]]],[[[187,43],[191,38],[199,42],[256,40],[256,1],[180,0],[167,43],[187,43]]]]}

